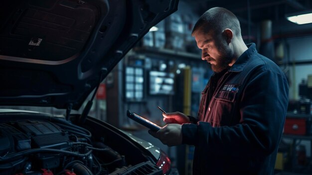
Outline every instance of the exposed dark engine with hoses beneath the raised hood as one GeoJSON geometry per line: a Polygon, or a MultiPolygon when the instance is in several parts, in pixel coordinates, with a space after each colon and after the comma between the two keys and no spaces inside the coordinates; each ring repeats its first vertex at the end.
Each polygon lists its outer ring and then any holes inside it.
{"type": "Polygon", "coordinates": [[[117,175],[129,169],[123,156],[69,122],[0,124],[1,175],[117,175]]]}

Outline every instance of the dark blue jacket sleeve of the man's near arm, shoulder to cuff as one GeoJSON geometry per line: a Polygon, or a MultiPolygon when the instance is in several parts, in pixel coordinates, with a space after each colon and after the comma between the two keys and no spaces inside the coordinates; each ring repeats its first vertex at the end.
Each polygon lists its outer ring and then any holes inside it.
{"type": "Polygon", "coordinates": [[[239,124],[215,128],[207,122],[183,124],[182,143],[218,154],[271,154],[281,139],[288,91],[284,75],[265,70],[242,92],[239,124]]]}

